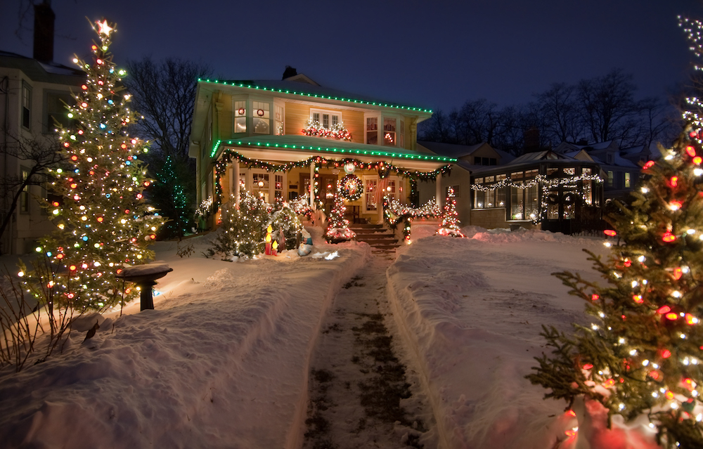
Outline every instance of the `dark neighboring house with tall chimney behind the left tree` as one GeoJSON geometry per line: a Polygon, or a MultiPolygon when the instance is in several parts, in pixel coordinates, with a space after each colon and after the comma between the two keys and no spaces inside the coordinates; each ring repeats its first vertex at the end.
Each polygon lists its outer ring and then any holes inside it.
{"type": "MultiPolygon", "coordinates": [[[[53,11],[44,3],[34,6],[34,55],[32,58],[0,51],[0,176],[3,181],[22,178],[31,162],[15,157],[17,139],[47,141],[56,128],[55,120],[67,125],[65,103],[71,103],[72,89],[85,80],[80,70],[54,63],[53,11]]],[[[11,193],[0,204],[8,213],[11,193]]],[[[28,186],[20,195],[11,222],[1,236],[2,254],[22,254],[34,247],[37,238],[53,226],[35,197],[46,197],[41,186],[28,186]]]]}

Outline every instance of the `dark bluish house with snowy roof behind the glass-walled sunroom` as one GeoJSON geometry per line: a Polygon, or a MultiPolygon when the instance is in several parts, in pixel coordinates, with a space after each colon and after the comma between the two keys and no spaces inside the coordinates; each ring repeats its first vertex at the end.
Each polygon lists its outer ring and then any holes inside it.
{"type": "Polygon", "coordinates": [[[640,157],[649,157],[644,156],[643,148],[620,150],[614,141],[592,145],[562,142],[554,148],[554,151],[565,155],[585,151],[595,162],[598,162],[605,175],[603,186],[605,200],[624,199],[633,190],[640,176],[638,164],[640,157]]]}

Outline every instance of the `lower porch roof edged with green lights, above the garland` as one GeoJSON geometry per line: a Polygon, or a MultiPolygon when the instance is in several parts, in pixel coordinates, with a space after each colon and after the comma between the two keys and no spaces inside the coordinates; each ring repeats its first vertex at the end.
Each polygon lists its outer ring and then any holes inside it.
{"type": "Polygon", "coordinates": [[[456,162],[453,157],[438,156],[425,152],[411,150],[392,150],[383,145],[366,145],[346,141],[330,141],[325,138],[310,136],[261,136],[243,137],[228,141],[217,141],[210,152],[215,157],[222,146],[233,148],[262,148],[264,150],[284,150],[290,152],[321,152],[349,157],[382,157],[385,159],[400,159],[418,162],[436,162],[449,164],[456,162]]]}

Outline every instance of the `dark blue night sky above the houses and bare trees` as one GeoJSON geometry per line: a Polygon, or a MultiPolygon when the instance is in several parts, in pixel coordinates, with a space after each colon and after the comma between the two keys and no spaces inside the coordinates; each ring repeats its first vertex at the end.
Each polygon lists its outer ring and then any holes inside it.
{"type": "MultiPolygon", "coordinates": [[[[32,56],[30,12],[3,0],[0,49],[32,56]]],[[[34,0],[38,1],[38,0],[34,0]]],[[[449,110],[487,98],[532,99],[553,82],[614,67],[639,96],[687,83],[692,53],[678,14],[695,0],[153,1],[53,0],[54,59],[89,56],[86,16],[117,22],[115,61],[167,56],[205,63],[219,79],[280,79],[285,65],[323,86],[405,105],[449,110]]]]}

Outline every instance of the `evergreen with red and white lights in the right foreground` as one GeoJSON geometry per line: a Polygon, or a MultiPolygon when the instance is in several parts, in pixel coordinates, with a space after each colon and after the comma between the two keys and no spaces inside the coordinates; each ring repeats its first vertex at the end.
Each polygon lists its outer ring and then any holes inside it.
{"type": "MultiPolygon", "coordinates": [[[[699,22],[682,25],[697,56],[699,22]]],[[[692,109],[701,103],[690,98],[692,109]]],[[[555,275],[586,301],[590,326],[569,337],[544,329],[551,356],[537,358],[528,376],[573,403],[584,395],[605,405],[609,417],[647,415],[667,448],[703,447],[703,189],[702,123],[684,113],[688,129],[663,158],[647,162],[631,207],[611,217],[624,245],[607,260],[591,254],[602,287],[579,274],[555,275]]]]}

